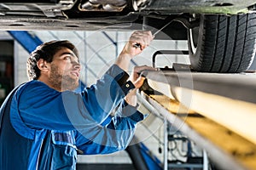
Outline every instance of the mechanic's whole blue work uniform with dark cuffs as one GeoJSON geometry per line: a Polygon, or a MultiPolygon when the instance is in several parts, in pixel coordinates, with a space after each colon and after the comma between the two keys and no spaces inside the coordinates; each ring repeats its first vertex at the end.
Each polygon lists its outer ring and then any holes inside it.
{"type": "Polygon", "coordinates": [[[124,150],[145,117],[125,103],[127,77],[113,65],[81,93],[21,85],[1,107],[0,169],[75,169],[78,153],[124,150]]]}

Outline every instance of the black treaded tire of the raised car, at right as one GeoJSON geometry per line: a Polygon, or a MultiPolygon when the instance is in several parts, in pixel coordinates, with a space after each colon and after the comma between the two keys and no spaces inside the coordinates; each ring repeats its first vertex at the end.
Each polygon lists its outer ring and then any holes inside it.
{"type": "Polygon", "coordinates": [[[201,14],[189,29],[189,58],[195,71],[242,72],[253,62],[256,14],[201,14]]]}

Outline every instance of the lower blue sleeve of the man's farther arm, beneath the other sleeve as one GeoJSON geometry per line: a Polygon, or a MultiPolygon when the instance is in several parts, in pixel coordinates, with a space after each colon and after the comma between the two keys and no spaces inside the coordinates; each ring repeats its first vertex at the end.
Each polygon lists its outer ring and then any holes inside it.
{"type": "Polygon", "coordinates": [[[107,123],[106,126],[99,125],[93,129],[97,132],[96,136],[80,131],[76,138],[77,147],[84,155],[109,154],[125,150],[134,136],[137,122],[141,122],[145,117],[124,100],[110,122],[104,122],[107,123]]]}

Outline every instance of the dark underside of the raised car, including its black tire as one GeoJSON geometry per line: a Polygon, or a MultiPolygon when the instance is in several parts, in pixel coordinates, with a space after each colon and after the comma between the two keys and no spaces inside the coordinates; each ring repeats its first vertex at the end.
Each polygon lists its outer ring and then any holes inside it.
{"type": "Polygon", "coordinates": [[[1,0],[0,29],[155,32],[168,24],[155,38],[188,40],[195,71],[241,72],[247,71],[255,55],[255,4],[255,0],[1,0]]]}

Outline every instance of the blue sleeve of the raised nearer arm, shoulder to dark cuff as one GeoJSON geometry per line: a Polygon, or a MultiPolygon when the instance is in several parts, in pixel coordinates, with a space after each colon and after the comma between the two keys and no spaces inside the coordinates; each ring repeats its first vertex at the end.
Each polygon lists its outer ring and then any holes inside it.
{"type": "MultiPolygon", "coordinates": [[[[77,94],[57,92],[33,81],[15,94],[12,111],[28,127],[53,130],[87,129],[105,121],[134,86],[126,86],[128,75],[113,65],[96,84],[77,94]]],[[[131,84],[132,85],[132,84],[131,84]]]]}

